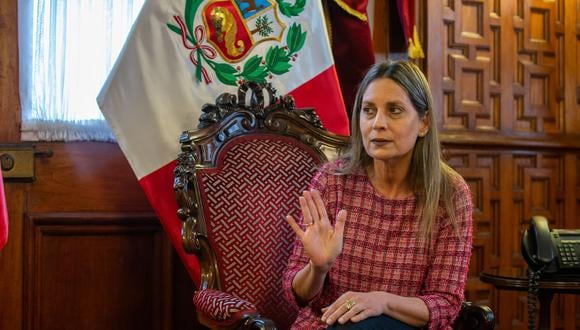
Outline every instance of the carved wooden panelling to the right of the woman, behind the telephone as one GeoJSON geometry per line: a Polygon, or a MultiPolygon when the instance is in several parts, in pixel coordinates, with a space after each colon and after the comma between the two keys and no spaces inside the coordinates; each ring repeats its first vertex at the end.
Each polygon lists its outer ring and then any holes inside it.
{"type": "MultiPolygon", "coordinates": [[[[479,273],[526,267],[520,240],[534,214],[580,228],[580,2],[420,3],[443,142],[474,194],[467,298],[491,305],[498,329],[526,329],[526,293],[479,273]]],[[[577,328],[578,311],[574,296],[556,297],[553,327],[577,328]]]]}

